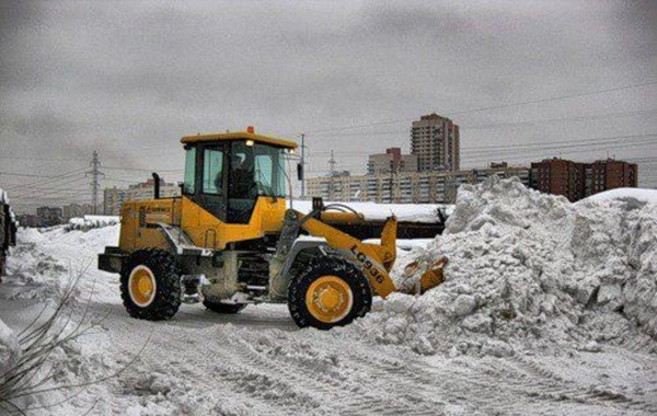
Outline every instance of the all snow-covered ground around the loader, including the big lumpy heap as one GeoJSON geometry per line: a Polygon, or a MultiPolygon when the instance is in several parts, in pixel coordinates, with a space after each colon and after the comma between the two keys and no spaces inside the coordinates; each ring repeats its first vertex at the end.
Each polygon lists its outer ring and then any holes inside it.
{"type": "Polygon", "coordinates": [[[461,187],[446,233],[406,244],[393,270],[400,281],[408,262],[447,255],[447,281],[330,332],[298,330],[275,304],[132,320],[95,264],[117,239],[117,226],[21,230],[0,340],[78,273],[73,321],[96,323],[49,360],[48,385],[92,384],[24,397],[28,414],[657,414],[656,204],[461,187]]]}

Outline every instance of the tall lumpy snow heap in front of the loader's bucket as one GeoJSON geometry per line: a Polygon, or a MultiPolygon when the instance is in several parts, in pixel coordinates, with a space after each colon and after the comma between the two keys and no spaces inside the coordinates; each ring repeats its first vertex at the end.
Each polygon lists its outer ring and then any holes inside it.
{"type": "Polygon", "coordinates": [[[397,282],[408,262],[442,255],[446,281],[422,297],[395,293],[347,331],[423,354],[656,348],[655,204],[574,205],[492,177],[462,186],[446,232],[411,254],[397,282]]]}

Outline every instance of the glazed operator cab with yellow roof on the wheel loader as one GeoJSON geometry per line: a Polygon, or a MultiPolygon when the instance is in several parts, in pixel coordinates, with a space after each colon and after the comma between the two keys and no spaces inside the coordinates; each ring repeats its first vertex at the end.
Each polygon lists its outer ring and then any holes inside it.
{"type": "Polygon", "coordinates": [[[258,198],[286,197],[285,154],[295,142],[253,132],[191,136],[183,195],[226,223],[245,224],[258,198]]]}

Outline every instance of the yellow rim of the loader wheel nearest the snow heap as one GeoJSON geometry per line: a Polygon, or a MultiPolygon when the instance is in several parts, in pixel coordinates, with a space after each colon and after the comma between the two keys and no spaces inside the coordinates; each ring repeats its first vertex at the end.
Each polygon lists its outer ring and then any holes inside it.
{"type": "Polygon", "coordinates": [[[349,285],[337,276],[322,276],[306,292],[310,314],[324,323],[337,322],[351,311],[354,294],[349,285]]]}

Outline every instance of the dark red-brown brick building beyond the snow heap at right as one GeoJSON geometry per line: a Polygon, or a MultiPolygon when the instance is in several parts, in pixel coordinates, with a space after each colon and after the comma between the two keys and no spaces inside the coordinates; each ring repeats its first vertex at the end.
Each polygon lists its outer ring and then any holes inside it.
{"type": "Polygon", "coordinates": [[[636,164],[608,159],[579,163],[545,159],[531,164],[530,186],[577,201],[602,190],[637,186],[636,164]]]}

